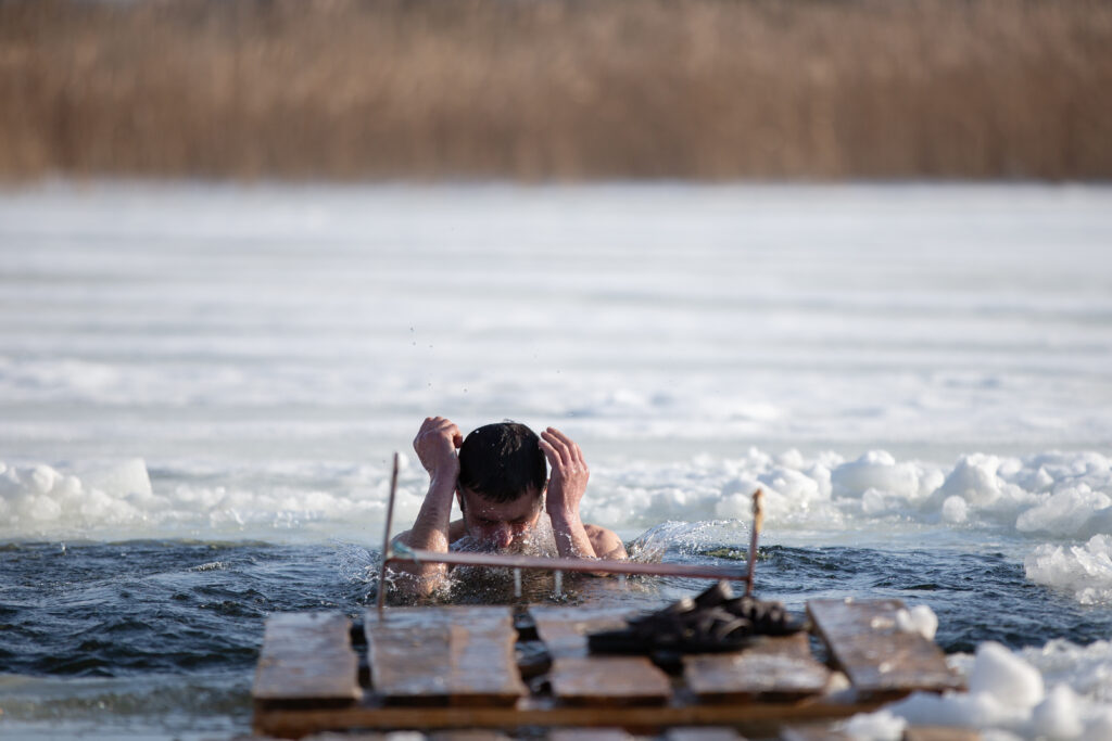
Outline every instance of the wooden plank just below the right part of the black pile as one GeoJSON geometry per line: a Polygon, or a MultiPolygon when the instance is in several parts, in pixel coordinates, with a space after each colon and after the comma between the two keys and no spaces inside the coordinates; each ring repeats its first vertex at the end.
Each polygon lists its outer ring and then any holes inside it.
{"type": "Polygon", "coordinates": [[[825,691],[831,671],[811,657],[805,633],[744,651],[684,657],[687,687],[704,702],[795,700],[825,691]]]}

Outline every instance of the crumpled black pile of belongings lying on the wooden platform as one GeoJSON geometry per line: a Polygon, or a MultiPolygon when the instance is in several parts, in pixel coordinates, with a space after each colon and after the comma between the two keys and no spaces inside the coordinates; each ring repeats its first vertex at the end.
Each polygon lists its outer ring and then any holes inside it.
{"type": "Polygon", "coordinates": [[[803,629],[782,603],[735,598],[725,581],[626,622],[627,628],[589,634],[588,648],[595,653],[716,653],[738,651],[759,635],[803,629]]]}

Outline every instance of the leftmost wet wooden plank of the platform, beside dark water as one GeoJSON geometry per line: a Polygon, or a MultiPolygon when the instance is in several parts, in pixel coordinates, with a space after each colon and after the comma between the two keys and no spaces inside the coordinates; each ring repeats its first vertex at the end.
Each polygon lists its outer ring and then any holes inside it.
{"type": "Polygon", "coordinates": [[[268,618],[251,697],[329,707],[361,698],[350,624],[347,617],[331,612],[268,618]]]}

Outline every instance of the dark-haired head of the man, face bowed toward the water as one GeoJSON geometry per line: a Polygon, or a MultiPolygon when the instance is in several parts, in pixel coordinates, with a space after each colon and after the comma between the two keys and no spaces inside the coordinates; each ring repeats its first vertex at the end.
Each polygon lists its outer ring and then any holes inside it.
{"type": "Polygon", "coordinates": [[[517,422],[486,424],[464,440],[457,495],[467,532],[480,544],[519,543],[540,515],[547,468],[539,440],[517,422]]]}

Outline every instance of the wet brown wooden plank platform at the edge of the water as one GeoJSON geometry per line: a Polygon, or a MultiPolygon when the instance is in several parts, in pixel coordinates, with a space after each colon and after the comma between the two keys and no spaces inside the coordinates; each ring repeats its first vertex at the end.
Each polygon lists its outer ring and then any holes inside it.
{"type": "Polygon", "coordinates": [[[937,647],[896,630],[901,608],[895,600],[807,604],[853,688],[836,694],[835,668],[812,655],[803,633],[684,657],[666,673],[647,658],[588,654],[586,634],[623,625],[626,611],[533,607],[519,624],[535,623],[536,634],[519,635],[508,607],[395,608],[365,617],[369,671],[360,673],[347,618],[274,615],[252,691],[254,727],[280,738],[354,729],[368,735],[411,729],[430,738],[486,729],[483,738],[500,738],[525,727],[568,738],[584,729],[593,738],[604,729],[615,738],[626,731],[661,739],[775,735],[788,721],[846,718],[912,690],[960,685],[937,647]],[[526,638],[539,639],[552,658],[546,671],[530,671],[537,675],[528,684],[514,652],[526,638]]]}

